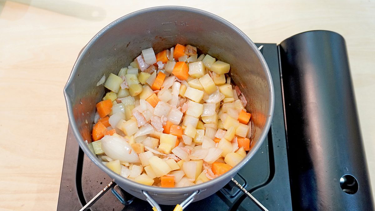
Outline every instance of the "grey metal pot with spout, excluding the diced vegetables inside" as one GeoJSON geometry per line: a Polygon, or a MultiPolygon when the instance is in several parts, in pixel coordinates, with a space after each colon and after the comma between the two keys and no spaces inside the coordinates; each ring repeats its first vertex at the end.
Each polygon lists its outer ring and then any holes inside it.
{"type": "MultiPolygon", "coordinates": [[[[218,191],[252,158],[264,141],[273,115],[274,94],[269,68],[255,44],[236,26],[211,13],[180,6],[143,9],[106,26],[83,48],[64,89],[73,133],[84,153],[125,191],[146,200],[148,193],[157,203],[181,203],[197,192],[201,200],[218,191]],[[95,104],[104,95],[96,86],[103,74],[117,74],[141,53],[153,47],[158,52],[176,43],[190,44],[231,65],[234,83],[248,100],[252,113],[252,143],[248,155],[233,169],[211,181],[183,188],[160,188],[138,184],[112,172],[93,153],[91,130],[95,104]],[[88,122],[88,123],[86,123],[88,122]]],[[[260,164],[261,165],[261,164],[260,164]]]]}

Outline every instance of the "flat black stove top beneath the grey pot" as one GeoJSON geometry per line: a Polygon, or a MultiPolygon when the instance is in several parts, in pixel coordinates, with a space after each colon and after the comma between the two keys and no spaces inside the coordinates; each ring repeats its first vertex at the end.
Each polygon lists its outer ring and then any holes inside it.
{"type": "MultiPolygon", "coordinates": [[[[291,210],[291,192],[288,173],[287,144],[285,136],[284,110],[279,68],[279,54],[276,44],[263,45],[261,52],[270,68],[275,87],[275,112],[267,139],[254,157],[234,177],[259,202],[269,210],[291,210]]],[[[100,170],[79,148],[69,126],[66,140],[60,194],[57,210],[79,210],[111,178],[100,170]]],[[[174,206],[161,205],[163,210],[174,206]]],[[[258,210],[242,191],[229,182],[215,194],[191,203],[185,211],[200,210],[258,210]]],[[[150,205],[119,187],[104,194],[91,210],[150,210],[150,205]],[[120,195],[124,201],[118,200],[120,195]]]]}

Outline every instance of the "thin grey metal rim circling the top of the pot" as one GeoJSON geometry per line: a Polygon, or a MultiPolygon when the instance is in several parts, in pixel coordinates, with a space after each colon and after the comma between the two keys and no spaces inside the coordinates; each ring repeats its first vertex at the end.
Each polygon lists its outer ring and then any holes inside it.
{"type": "MultiPolygon", "coordinates": [[[[257,46],[254,44],[254,42],[251,41],[251,39],[245,35],[240,29],[238,29],[236,26],[233,24],[229,23],[225,19],[214,15],[210,12],[203,11],[201,9],[196,9],[196,8],[190,8],[190,7],[184,7],[184,6],[157,6],[157,7],[151,7],[151,8],[146,8],[146,9],[141,9],[135,12],[132,12],[130,14],[124,15],[123,17],[118,18],[117,20],[113,21],[112,23],[108,24],[106,27],[104,27],[100,32],[98,32],[88,43],[87,45],[81,50],[80,54],[78,55],[78,58],[72,68],[72,72],[69,76],[68,82],[66,83],[64,87],[64,96],[65,96],[65,101],[67,105],[67,110],[68,110],[68,119],[69,123],[71,124],[71,128],[73,131],[73,134],[75,138],[77,139],[81,149],[84,151],[84,153],[92,160],[101,170],[103,170],[105,173],[108,174],[114,181],[121,181],[121,183],[126,184],[129,186],[129,188],[135,188],[136,190],[144,190],[144,191],[150,191],[150,192],[156,192],[156,193],[162,193],[162,192],[173,192],[173,193],[185,193],[185,192],[190,192],[190,191],[195,191],[195,190],[202,190],[205,188],[210,187],[211,185],[214,185],[219,182],[225,182],[230,175],[235,175],[239,169],[241,169],[257,152],[261,146],[261,144],[264,142],[264,139],[267,136],[267,133],[269,131],[271,122],[272,122],[272,117],[273,117],[273,112],[274,112],[274,106],[275,106],[275,96],[274,96],[274,88],[273,88],[273,82],[272,82],[272,77],[271,73],[269,70],[269,67],[266,63],[266,60],[264,59],[263,55],[261,52],[258,50],[257,46]],[[207,17],[212,18],[215,21],[218,21],[232,30],[236,31],[237,33],[240,34],[240,36],[248,43],[248,45],[255,51],[255,54],[257,55],[258,59],[261,61],[263,64],[263,69],[264,72],[266,73],[267,77],[267,84],[269,86],[269,99],[270,99],[270,104],[269,104],[269,112],[267,113],[267,118],[266,118],[266,124],[264,125],[264,129],[262,133],[260,134],[259,140],[257,143],[255,143],[254,147],[252,148],[252,151],[249,152],[246,157],[235,167],[233,167],[231,170],[226,172],[225,174],[212,179],[208,182],[203,182],[202,184],[198,185],[193,185],[189,187],[179,187],[179,188],[162,188],[162,187],[154,187],[154,186],[148,186],[148,185],[143,185],[139,184],[137,182],[131,181],[129,179],[123,178],[122,176],[114,173],[110,169],[108,169],[102,162],[99,161],[99,159],[94,155],[85,141],[83,140],[80,131],[78,130],[77,124],[74,119],[74,113],[73,113],[73,108],[72,108],[72,100],[69,97],[69,86],[71,85],[73,78],[77,74],[77,68],[78,64],[81,62],[83,59],[84,55],[87,53],[87,51],[90,49],[90,47],[95,44],[96,39],[100,38],[102,34],[107,32],[107,30],[111,29],[115,24],[117,24],[120,21],[125,21],[129,18],[135,17],[137,15],[144,14],[146,12],[154,12],[154,11],[165,11],[165,10],[172,10],[172,11],[185,11],[185,12],[192,12],[200,15],[204,15],[207,17]]],[[[225,183],[226,184],[226,183],[225,183]]],[[[223,186],[225,185],[223,184],[223,186]]]]}

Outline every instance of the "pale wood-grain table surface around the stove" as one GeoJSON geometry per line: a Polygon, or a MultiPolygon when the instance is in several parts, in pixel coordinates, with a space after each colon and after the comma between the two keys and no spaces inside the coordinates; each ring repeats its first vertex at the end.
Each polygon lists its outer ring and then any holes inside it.
{"type": "Polygon", "coordinates": [[[315,29],[344,36],[375,193],[374,1],[225,2],[0,0],[0,209],[56,209],[68,128],[63,87],[79,51],[115,19],[170,3],[219,15],[254,42],[315,29]]]}

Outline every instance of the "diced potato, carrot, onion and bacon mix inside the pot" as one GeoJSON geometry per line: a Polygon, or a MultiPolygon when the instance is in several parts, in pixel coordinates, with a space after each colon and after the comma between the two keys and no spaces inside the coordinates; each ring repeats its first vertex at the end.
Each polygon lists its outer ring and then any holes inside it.
{"type": "Polygon", "coordinates": [[[224,174],[251,148],[251,114],[229,70],[208,54],[198,57],[191,45],[142,50],[104,83],[95,154],[145,185],[186,187],[224,174]]]}

